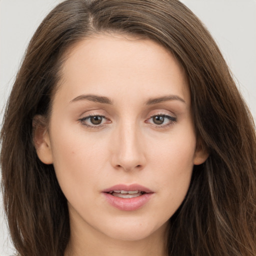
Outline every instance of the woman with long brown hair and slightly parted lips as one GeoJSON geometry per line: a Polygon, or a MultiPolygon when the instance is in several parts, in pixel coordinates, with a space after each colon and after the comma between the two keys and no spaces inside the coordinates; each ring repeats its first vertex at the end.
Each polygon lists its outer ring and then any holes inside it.
{"type": "Polygon", "coordinates": [[[32,37],[1,131],[19,255],[255,255],[253,121],[177,0],[67,0],[32,37]]]}

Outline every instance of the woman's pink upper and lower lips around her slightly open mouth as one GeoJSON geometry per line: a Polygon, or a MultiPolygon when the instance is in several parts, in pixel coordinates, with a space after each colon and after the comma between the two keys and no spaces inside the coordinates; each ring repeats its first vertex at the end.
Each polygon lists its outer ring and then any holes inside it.
{"type": "Polygon", "coordinates": [[[104,189],[102,193],[106,201],[111,206],[119,210],[131,211],[131,210],[137,210],[141,208],[143,205],[145,205],[150,200],[154,192],[149,188],[139,184],[130,184],[130,185],[117,184],[104,189]],[[110,194],[109,191],[112,191],[112,190],[125,190],[125,191],[139,190],[145,193],[132,198],[122,198],[122,197],[117,197],[110,194]]]}

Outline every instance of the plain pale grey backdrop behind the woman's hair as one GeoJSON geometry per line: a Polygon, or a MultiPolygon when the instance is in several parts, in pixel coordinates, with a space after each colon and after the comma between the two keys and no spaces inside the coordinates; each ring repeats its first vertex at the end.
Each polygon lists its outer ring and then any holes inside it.
{"type": "MultiPolygon", "coordinates": [[[[61,1],[0,0],[0,120],[29,39],[43,17],[61,1]]],[[[217,41],[256,120],[256,0],[182,2],[203,21],[217,41]]],[[[0,256],[8,256],[14,250],[1,200],[0,194],[0,256]]]]}

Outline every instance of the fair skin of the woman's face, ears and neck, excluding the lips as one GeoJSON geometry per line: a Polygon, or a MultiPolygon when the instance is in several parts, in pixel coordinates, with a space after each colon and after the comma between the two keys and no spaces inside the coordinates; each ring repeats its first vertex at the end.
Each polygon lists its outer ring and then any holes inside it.
{"type": "Polygon", "coordinates": [[[68,201],[66,256],[166,255],[168,219],[207,153],[196,148],[185,75],[165,48],[116,34],[80,41],[63,64],[49,124],[34,139],[68,201]],[[81,96],[88,94],[112,103],[81,96]],[[89,115],[105,117],[95,125],[89,115]],[[152,117],[159,115],[162,124],[152,117]],[[102,195],[133,183],[154,192],[137,210],[117,209],[102,195]]]}

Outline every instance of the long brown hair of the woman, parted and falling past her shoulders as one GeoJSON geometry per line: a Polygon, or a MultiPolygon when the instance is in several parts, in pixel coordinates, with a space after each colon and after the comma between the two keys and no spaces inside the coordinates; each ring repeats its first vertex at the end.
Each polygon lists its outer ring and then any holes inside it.
{"type": "Polygon", "coordinates": [[[64,52],[92,33],[111,31],[150,38],[177,58],[188,79],[197,139],[209,151],[170,218],[168,255],[256,255],[253,120],[214,40],[178,0],[67,0],[36,30],[1,130],[3,200],[19,255],[64,253],[67,203],[53,166],[36,155],[32,120],[50,114],[64,52]]]}

